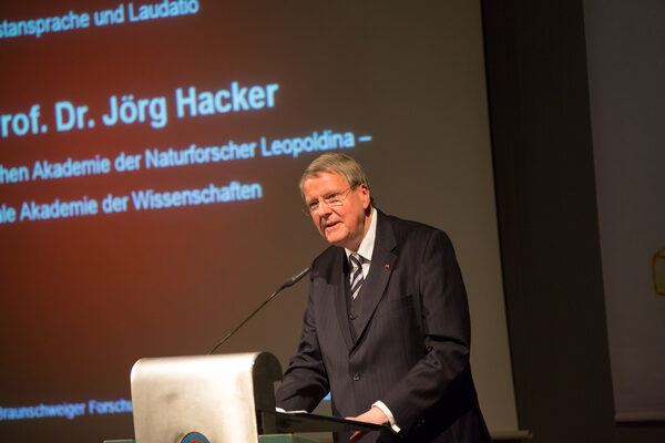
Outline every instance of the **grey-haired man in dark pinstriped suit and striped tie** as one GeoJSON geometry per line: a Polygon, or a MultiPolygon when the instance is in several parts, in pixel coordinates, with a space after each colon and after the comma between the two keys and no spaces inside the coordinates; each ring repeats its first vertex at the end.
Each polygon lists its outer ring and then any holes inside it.
{"type": "Polygon", "coordinates": [[[376,209],[365,172],[344,154],[316,158],[300,192],[332,246],[314,261],[298,353],[277,405],[311,411],[330,391],[335,415],[396,433],[352,441],[489,442],[450,239],[376,209]]]}

